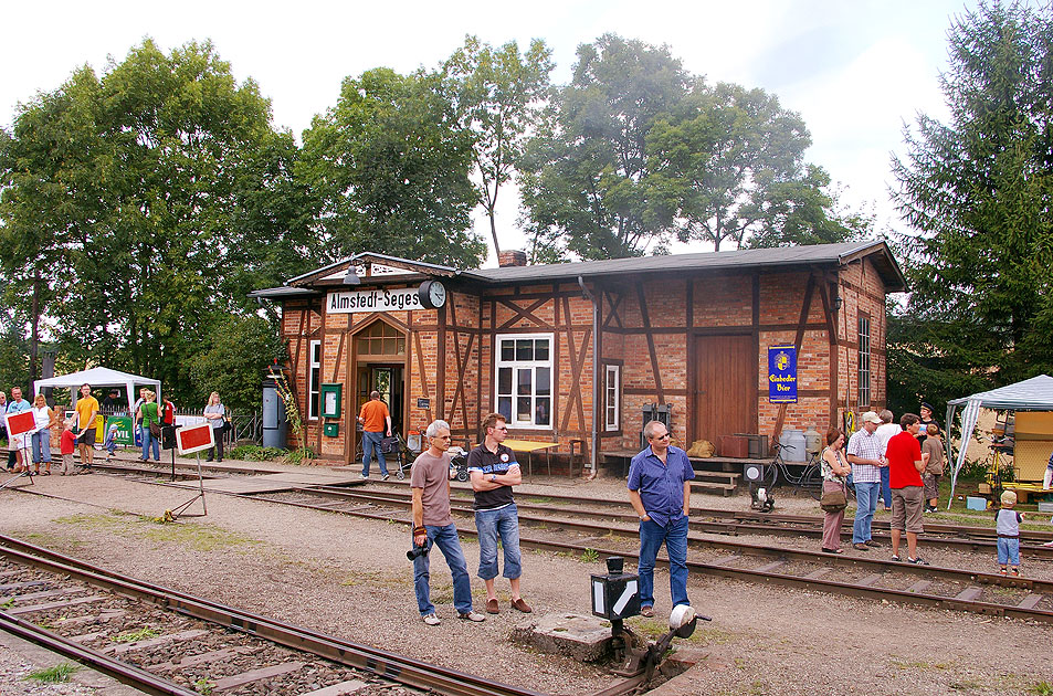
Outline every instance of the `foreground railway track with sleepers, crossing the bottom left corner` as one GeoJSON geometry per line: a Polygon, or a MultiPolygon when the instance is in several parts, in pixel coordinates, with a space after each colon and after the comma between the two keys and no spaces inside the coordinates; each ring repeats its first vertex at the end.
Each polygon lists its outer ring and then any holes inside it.
{"type": "MultiPolygon", "coordinates": [[[[120,576],[7,536],[0,536],[0,630],[150,694],[370,696],[390,693],[398,683],[453,696],[539,696],[120,576]]],[[[607,693],[635,685],[623,682],[607,693]]]]}

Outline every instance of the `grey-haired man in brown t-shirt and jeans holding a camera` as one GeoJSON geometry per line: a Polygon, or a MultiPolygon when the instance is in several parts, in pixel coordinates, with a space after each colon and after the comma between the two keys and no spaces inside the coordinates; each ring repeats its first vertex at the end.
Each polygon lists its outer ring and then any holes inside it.
{"type": "Polygon", "coordinates": [[[430,626],[441,621],[431,603],[428,551],[432,546],[446,559],[453,576],[453,605],[457,616],[465,621],[485,621],[486,616],[472,611],[472,580],[468,577],[464,551],[457,539],[457,527],[450,515],[450,424],[435,421],[424,431],[428,450],[421,452],[410,470],[413,492],[413,548],[406,555],[413,561],[413,589],[421,619],[430,626]]]}

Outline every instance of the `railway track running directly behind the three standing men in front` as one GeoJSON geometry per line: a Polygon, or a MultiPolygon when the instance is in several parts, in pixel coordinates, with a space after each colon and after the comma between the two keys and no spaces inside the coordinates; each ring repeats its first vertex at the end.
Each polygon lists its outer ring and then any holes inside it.
{"type": "MultiPolygon", "coordinates": [[[[291,487],[278,494],[224,494],[308,509],[344,514],[365,519],[409,525],[409,497],[404,484],[377,486],[371,491],[355,486],[345,488],[291,487]]],[[[370,488],[372,488],[370,484],[370,488]]],[[[456,491],[456,489],[455,489],[456,491]]],[[[635,558],[638,529],[624,524],[613,509],[589,512],[568,509],[579,504],[611,506],[624,509],[620,502],[599,502],[572,496],[539,496],[561,504],[535,505],[517,496],[520,521],[531,527],[531,536],[520,532],[520,544],[566,553],[589,553],[598,558],[623,556],[635,558]],[[538,510],[537,508],[541,508],[538,510]],[[598,515],[599,518],[589,519],[598,515]],[[572,538],[569,538],[572,537],[572,538]]],[[[454,513],[470,515],[471,509],[454,500],[454,513]]],[[[699,510],[701,512],[701,510],[699,510]]],[[[726,510],[715,512],[727,516],[726,510]]],[[[695,510],[693,510],[695,514],[695,510]]],[[[635,523],[635,517],[632,518],[635,523]]],[[[720,523],[722,525],[728,523],[720,523]]],[[[750,523],[754,524],[754,523],[750,523]]],[[[474,536],[473,525],[459,525],[460,534],[474,536]]],[[[981,545],[982,539],[970,544],[981,545]]],[[[910,566],[891,560],[859,556],[826,555],[805,549],[748,544],[730,539],[688,535],[693,572],[744,580],[762,584],[782,584],[820,590],[850,597],[945,608],[958,611],[1053,623],[1053,582],[1025,577],[1007,578],[971,569],[938,566],[910,566]]],[[[664,562],[660,559],[660,562],[664,562]]]]}

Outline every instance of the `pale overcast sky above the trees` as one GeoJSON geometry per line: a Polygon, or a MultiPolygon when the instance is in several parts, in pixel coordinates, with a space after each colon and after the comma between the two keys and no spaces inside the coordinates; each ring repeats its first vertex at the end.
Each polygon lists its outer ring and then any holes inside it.
{"type": "MultiPolygon", "coordinates": [[[[889,157],[904,120],[946,117],[938,75],[951,17],[976,0],[694,0],[524,3],[17,2],[4,8],[0,125],[17,104],[57,88],[87,63],[102,72],[151,36],[166,51],[211,39],[239,80],[253,77],[274,123],[299,134],[336,103],[340,81],[377,66],[435,66],[472,33],[494,45],[552,49],[554,80],[569,81],[579,44],[606,32],[668,44],[709,82],[764,87],[798,110],[812,134],[809,161],[845,187],[843,200],[899,226],[888,202],[889,157]],[[733,7],[734,6],[734,7],[733,7]]],[[[515,207],[498,211],[502,246],[522,238],[515,207]]],[[[489,239],[477,215],[477,229],[489,239]]],[[[704,251],[702,247],[695,251],[704,251]]]]}

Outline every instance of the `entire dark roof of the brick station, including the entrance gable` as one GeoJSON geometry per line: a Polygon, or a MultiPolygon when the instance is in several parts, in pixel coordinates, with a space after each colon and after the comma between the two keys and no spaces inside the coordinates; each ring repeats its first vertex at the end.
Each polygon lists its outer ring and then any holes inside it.
{"type": "MultiPolygon", "coordinates": [[[[865,242],[843,242],[840,244],[813,244],[810,246],[779,246],[776,249],[743,249],[726,252],[703,252],[695,254],[668,254],[661,256],[634,256],[632,259],[611,259],[608,261],[580,261],[573,263],[552,263],[531,266],[503,266],[499,268],[477,268],[456,271],[447,266],[425,264],[406,259],[394,259],[381,254],[356,254],[336,263],[323,266],[310,273],[291,278],[284,287],[274,287],[250,293],[250,297],[280,298],[308,296],[320,289],[317,281],[339,268],[346,268],[352,262],[370,260],[398,265],[424,275],[453,276],[475,281],[485,285],[515,283],[544,283],[551,281],[601,278],[619,275],[646,275],[652,273],[682,273],[685,271],[726,271],[739,268],[807,267],[817,265],[845,265],[863,257],[871,257],[881,273],[885,292],[902,293],[907,288],[906,280],[888,249],[881,240],[865,242]],[[289,287],[291,285],[297,287],[289,287]],[[304,287],[308,286],[308,287],[304,287]]],[[[392,282],[404,276],[379,276],[392,282]]],[[[368,280],[366,281],[368,285],[368,280]]]]}

